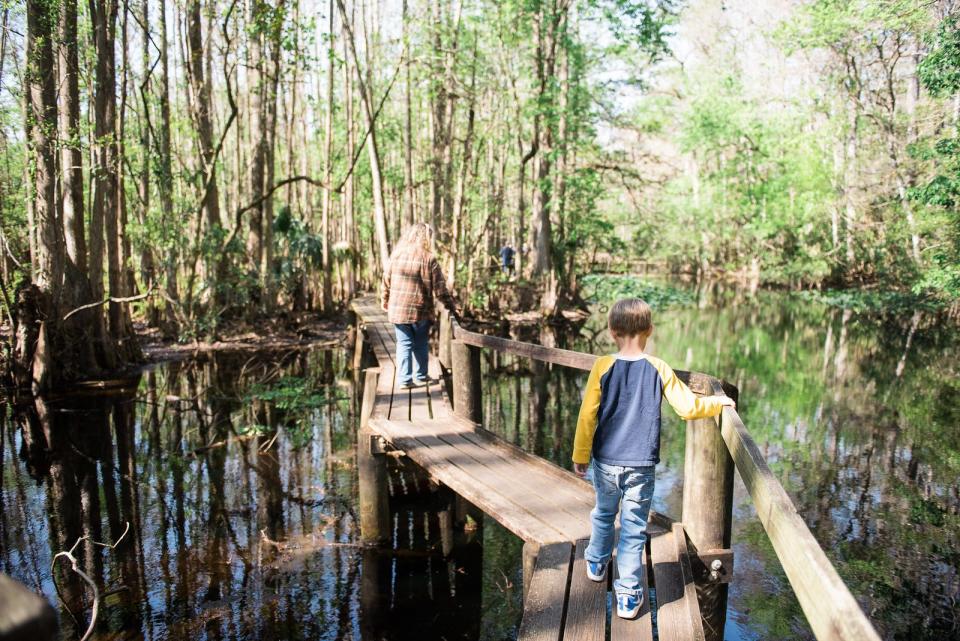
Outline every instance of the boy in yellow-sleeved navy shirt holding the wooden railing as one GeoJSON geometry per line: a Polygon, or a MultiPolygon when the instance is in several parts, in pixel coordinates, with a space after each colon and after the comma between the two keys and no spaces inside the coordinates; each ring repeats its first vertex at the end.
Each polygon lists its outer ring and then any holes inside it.
{"type": "Polygon", "coordinates": [[[694,396],[669,365],[644,353],[653,333],[650,316],[650,306],[638,298],[617,301],[610,308],[607,325],[619,351],[598,358],[590,371],[573,444],[573,467],[581,478],[593,455],[597,502],[590,512],[592,532],[584,552],[587,576],[593,581],[606,579],[613,522],[620,511],[619,577],[613,587],[617,615],[624,619],[637,616],[644,598],[641,562],[654,467],[660,461],[661,397],[685,420],[735,407],[726,396],[694,396]]]}

